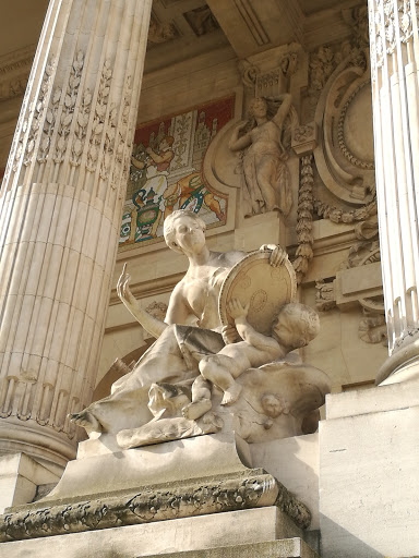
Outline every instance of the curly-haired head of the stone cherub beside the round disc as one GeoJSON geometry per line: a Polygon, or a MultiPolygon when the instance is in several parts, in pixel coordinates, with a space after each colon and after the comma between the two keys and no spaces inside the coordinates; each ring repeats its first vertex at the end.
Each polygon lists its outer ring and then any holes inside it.
{"type": "Polygon", "coordinates": [[[300,303],[285,304],[275,319],[273,327],[278,341],[290,351],[306,347],[320,331],[318,313],[300,303]]]}

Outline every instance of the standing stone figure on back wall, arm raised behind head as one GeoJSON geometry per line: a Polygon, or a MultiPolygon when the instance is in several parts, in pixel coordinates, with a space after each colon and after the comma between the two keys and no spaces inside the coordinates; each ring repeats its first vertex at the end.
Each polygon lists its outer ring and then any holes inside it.
{"type": "Polygon", "coordinates": [[[285,217],[289,214],[292,196],[286,162],[288,155],[282,140],[284,121],[290,107],[290,94],[277,99],[256,97],[250,106],[251,121],[239,123],[232,132],[229,148],[242,151],[246,216],[275,209],[285,217]],[[271,105],[282,101],[271,119],[267,101],[271,105]]]}

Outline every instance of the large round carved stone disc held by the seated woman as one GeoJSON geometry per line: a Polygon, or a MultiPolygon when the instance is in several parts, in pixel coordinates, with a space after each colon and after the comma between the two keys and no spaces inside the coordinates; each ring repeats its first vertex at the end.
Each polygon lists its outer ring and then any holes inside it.
{"type": "Polygon", "coordinates": [[[294,301],[297,292],[294,267],[288,259],[278,267],[271,266],[271,251],[252,252],[231,268],[218,299],[223,326],[235,324],[228,314],[227,303],[237,299],[242,306],[250,304],[248,323],[268,336],[280,306],[294,301]]]}

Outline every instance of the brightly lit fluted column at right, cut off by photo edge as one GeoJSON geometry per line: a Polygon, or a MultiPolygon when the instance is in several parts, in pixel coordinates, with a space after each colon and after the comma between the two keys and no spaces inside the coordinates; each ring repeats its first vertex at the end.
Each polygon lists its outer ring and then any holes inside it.
{"type": "Polygon", "coordinates": [[[417,0],[369,0],[376,191],[390,359],[376,381],[419,375],[417,0]]]}

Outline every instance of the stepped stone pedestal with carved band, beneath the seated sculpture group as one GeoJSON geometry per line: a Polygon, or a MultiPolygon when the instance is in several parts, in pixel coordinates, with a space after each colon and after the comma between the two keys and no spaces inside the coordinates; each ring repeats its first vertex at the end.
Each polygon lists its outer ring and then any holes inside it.
{"type": "Polygon", "coordinates": [[[47,497],[8,509],[0,553],[75,558],[83,548],[93,558],[211,549],[218,556],[226,547],[231,556],[240,549],[252,556],[251,548],[270,543],[277,556],[316,556],[302,543],[318,543],[307,533],[308,508],[254,469],[248,445],[234,434],[124,451],[113,446],[111,435],[87,440],[47,497]],[[280,554],[286,549],[295,554],[280,554]]]}

